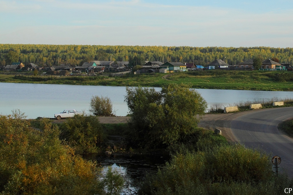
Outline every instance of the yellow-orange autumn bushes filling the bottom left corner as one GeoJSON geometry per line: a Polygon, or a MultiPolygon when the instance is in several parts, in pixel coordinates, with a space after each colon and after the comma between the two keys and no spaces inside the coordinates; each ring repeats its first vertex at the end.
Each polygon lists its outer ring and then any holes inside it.
{"type": "Polygon", "coordinates": [[[1,194],[103,194],[96,163],[74,155],[59,133],[48,119],[35,130],[21,114],[0,115],[1,194]]]}

